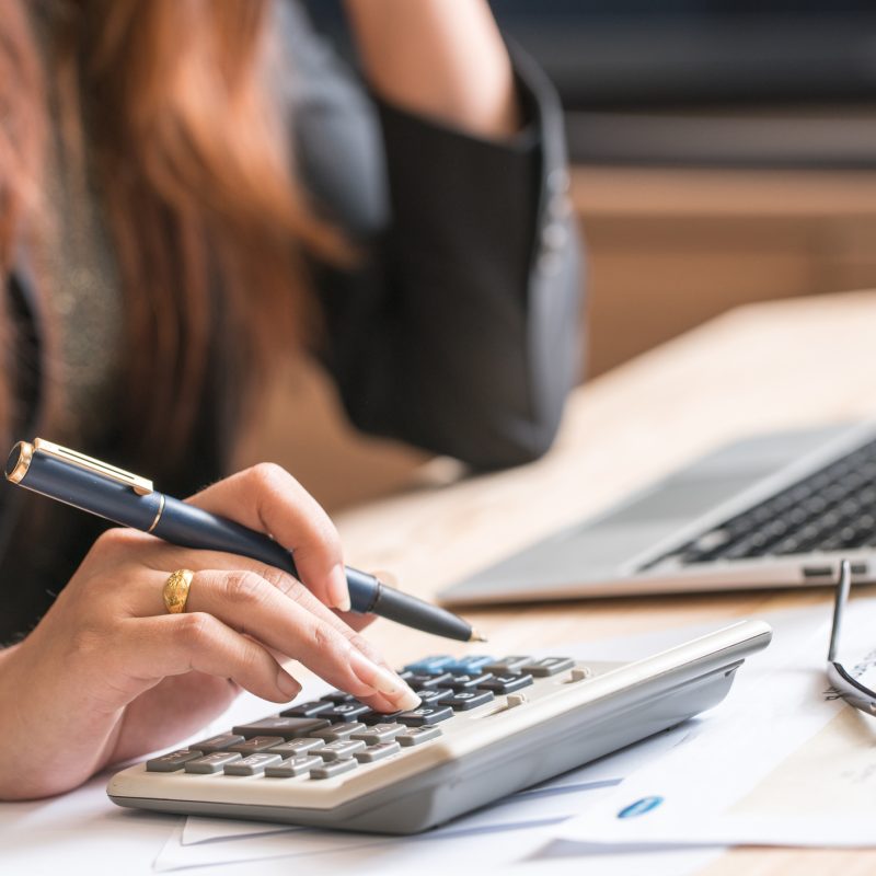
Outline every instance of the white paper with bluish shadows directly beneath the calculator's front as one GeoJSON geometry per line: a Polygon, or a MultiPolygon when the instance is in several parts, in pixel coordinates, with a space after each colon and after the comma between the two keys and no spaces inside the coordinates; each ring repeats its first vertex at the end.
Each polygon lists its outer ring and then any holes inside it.
{"type": "MultiPolygon", "coordinates": [[[[221,866],[222,873],[233,874],[233,865],[238,864],[241,872],[249,866],[253,867],[250,872],[260,875],[288,874],[293,861],[297,869],[319,867],[333,874],[385,874],[410,868],[447,873],[454,867],[464,873],[475,865],[482,872],[520,867],[521,872],[542,873],[550,866],[552,874],[578,873],[585,850],[553,843],[551,830],[619,785],[624,774],[668,752],[689,730],[683,727],[660,734],[446,827],[413,837],[189,817],[155,860],[155,871],[221,866]]],[[[667,850],[656,857],[649,854],[648,872],[656,876],[691,873],[717,853],[667,850]]],[[[588,858],[587,869],[593,876],[620,876],[642,863],[643,855],[635,850],[609,856],[600,850],[592,861],[588,858]]]]}

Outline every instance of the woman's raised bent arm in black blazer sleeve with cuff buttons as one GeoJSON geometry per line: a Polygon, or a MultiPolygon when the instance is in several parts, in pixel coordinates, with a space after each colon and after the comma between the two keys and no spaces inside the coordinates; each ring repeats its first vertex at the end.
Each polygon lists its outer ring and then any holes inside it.
{"type": "MultiPolygon", "coordinates": [[[[348,2],[353,16],[356,0],[348,2]]],[[[395,9],[391,0],[361,5],[370,26],[380,10],[395,9]]],[[[295,62],[285,96],[299,172],[321,212],[368,253],[353,269],[319,266],[320,353],[362,431],[479,469],[519,464],[550,447],[580,360],[580,250],[562,108],[544,73],[525,53],[506,51],[492,21],[465,24],[464,50],[443,45],[442,60],[423,61],[454,24],[415,38],[404,16],[427,21],[439,4],[399,5],[383,23],[394,38],[362,58],[373,103],[297,7],[280,7],[278,32],[295,62]],[[496,53],[470,42],[479,33],[495,36],[496,53]],[[413,53],[411,70],[381,84],[377,69],[385,74],[396,50],[413,53]],[[483,105],[464,92],[484,92],[491,76],[479,65],[491,57],[511,79],[487,91],[519,105],[523,128],[515,136],[461,126],[463,107],[483,105]],[[428,103],[414,68],[452,96],[428,103]]],[[[488,11],[469,0],[440,7],[448,9],[457,24],[488,11]]],[[[356,33],[364,28],[360,20],[356,33]]]]}

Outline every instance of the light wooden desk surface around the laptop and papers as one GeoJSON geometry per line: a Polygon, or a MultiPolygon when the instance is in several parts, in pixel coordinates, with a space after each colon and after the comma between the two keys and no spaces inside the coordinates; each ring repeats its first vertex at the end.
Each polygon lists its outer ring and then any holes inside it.
{"type": "MultiPolygon", "coordinates": [[[[338,518],[347,560],[392,569],[422,596],[596,511],[736,436],[876,413],[876,292],[792,299],[730,312],[577,391],[555,449],[516,471],[417,491],[338,518]]],[[[452,466],[450,466],[452,470],[452,466]]],[[[452,480],[452,479],[451,479],[452,480]]],[[[661,597],[470,611],[489,649],[520,653],[788,606],[826,590],[661,597]]],[[[379,621],[395,664],[447,644],[379,621]]],[[[482,646],[483,648],[483,646],[482,646]]],[[[737,850],[710,874],[863,874],[876,852],[737,850]],[[745,869],[742,869],[745,868],[745,869]]]]}

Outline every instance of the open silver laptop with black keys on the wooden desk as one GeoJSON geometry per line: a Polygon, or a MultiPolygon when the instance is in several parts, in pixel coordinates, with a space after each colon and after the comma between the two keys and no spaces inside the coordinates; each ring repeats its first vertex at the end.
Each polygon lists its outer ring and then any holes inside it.
{"type": "Polygon", "coordinates": [[[756,435],[456,584],[447,604],[876,580],[876,422],[756,435]]]}

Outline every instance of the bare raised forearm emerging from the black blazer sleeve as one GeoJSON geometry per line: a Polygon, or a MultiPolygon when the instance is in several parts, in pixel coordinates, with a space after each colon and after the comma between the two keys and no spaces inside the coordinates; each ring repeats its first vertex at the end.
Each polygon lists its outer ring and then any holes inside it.
{"type": "Polygon", "coordinates": [[[520,127],[514,71],[486,0],[346,0],[384,100],[480,137],[520,127]]]}

